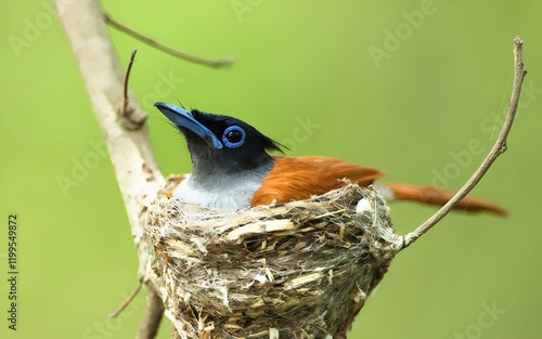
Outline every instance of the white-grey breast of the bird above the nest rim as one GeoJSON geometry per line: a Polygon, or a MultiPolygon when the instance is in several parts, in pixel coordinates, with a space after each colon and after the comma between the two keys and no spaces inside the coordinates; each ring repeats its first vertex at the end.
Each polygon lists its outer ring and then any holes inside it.
{"type": "Polygon", "coordinates": [[[261,186],[259,181],[230,181],[227,185],[203,188],[193,181],[183,180],[173,192],[173,198],[204,207],[237,210],[250,207],[254,193],[261,186]]]}

